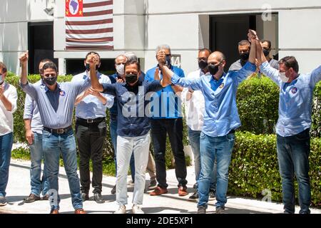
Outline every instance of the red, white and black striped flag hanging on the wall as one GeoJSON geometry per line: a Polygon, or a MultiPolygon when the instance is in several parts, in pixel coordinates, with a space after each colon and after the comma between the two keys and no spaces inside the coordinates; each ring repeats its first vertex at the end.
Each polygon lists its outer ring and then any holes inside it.
{"type": "Polygon", "coordinates": [[[113,0],[66,1],[66,50],[113,50],[113,0]]]}

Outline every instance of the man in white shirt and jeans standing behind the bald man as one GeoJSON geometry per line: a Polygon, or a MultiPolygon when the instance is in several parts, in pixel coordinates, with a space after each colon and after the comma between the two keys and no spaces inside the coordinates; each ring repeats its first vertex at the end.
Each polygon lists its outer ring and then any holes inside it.
{"type": "MultiPolygon", "coordinates": [[[[210,56],[211,51],[207,48],[200,49],[198,51],[198,71],[193,71],[188,74],[186,78],[188,79],[198,79],[203,76],[208,76],[210,73],[208,71],[208,56],[210,56]]],[[[186,124],[188,125],[188,140],[192,151],[194,154],[195,162],[195,180],[194,185],[195,192],[190,195],[189,199],[198,199],[198,179],[200,177],[200,133],[203,127],[204,119],[204,96],[200,90],[194,91],[188,88],[184,88],[181,95],[183,103],[185,103],[185,114],[186,114],[186,124]]],[[[210,192],[209,199],[213,200],[215,198],[216,189],[216,166],[214,163],[212,179],[210,182],[210,192]]]]}

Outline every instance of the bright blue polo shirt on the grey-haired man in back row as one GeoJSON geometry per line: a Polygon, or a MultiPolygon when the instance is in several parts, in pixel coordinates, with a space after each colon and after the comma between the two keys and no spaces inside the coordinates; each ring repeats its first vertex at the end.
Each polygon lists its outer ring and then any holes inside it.
{"type": "MultiPolygon", "coordinates": [[[[170,66],[170,70],[175,73],[176,76],[183,78],[184,71],[176,66],[170,66]]],[[[156,67],[151,68],[146,72],[145,80],[154,81],[156,67]]],[[[161,71],[159,71],[160,79],[163,78],[161,71]]],[[[172,86],[166,86],[162,90],[158,91],[153,100],[151,101],[151,118],[153,119],[170,119],[170,118],[182,118],[181,100],[175,92],[172,86]]]]}

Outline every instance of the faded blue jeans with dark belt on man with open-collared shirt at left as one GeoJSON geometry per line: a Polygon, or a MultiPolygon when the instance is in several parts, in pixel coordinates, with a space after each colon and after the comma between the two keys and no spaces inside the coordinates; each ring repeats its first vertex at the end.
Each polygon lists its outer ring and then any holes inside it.
{"type": "Polygon", "coordinates": [[[44,130],[42,134],[42,147],[49,180],[49,191],[56,191],[56,199],[50,195],[51,209],[59,209],[60,197],[58,195],[58,173],[60,154],[68,177],[69,189],[73,208],[83,208],[79,177],[77,174],[76,140],[73,130],[65,134],[49,133],[44,130]]]}

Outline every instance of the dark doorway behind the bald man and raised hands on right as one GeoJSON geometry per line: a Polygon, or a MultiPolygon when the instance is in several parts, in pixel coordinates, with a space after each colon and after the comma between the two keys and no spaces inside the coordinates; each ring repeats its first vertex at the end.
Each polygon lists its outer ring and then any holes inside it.
{"type": "Polygon", "coordinates": [[[225,71],[237,61],[238,42],[247,39],[248,29],[256,30],[256,15],[210,16],[210,50],[221,51],[227,58],[225,71]]]}

